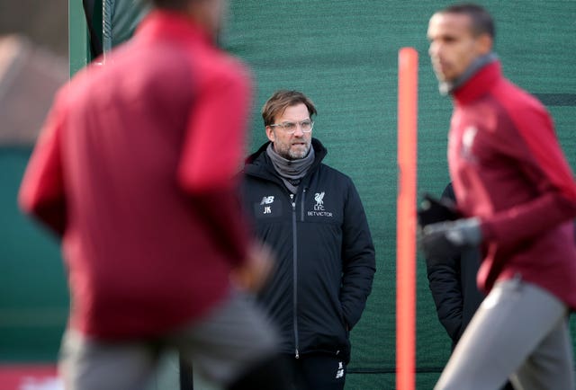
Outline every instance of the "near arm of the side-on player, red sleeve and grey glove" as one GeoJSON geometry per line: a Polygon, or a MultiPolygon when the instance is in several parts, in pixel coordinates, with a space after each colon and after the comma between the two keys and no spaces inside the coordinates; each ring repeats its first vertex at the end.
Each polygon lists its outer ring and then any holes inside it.
{"type": "MultiPolygon", "coordinates": [[[[509,100],[509,104],[518,100],[509,100]]],[[[502,103],[506,106],[506,99],[502,103]]],[[[511,120],[493,131],[491,148],[517,164],[535,198],[493,215],[440,222],[423,230],[428,255],[456,255],[477,244],[500,250],[529,242],[576,217],[576,182],[554,134],[552,120],[536,103],[508,106],[511,120]],[[512,124],[508,124],[508,122],[512,124]]]]}

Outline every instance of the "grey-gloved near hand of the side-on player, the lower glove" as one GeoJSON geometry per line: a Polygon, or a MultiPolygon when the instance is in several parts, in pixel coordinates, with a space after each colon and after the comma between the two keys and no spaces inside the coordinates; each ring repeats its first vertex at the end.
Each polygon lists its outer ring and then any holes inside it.
{"type": "Polygon", "coordinates": [[[419,246],[430,263],[454,261],[464,249],[482,242],[480,219],[437,222],[420,229],[419,246]]]}

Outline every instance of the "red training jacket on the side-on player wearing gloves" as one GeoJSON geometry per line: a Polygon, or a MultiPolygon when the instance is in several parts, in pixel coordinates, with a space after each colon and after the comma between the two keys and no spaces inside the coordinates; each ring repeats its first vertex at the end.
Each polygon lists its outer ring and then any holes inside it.
{"type": "Polygon", "coordinates": [[[448,161],[458,206],[482,220],[479,286],[520,276],[576,308],[576,183],[550,116],[500,62],[454,98],[448,161]]]}

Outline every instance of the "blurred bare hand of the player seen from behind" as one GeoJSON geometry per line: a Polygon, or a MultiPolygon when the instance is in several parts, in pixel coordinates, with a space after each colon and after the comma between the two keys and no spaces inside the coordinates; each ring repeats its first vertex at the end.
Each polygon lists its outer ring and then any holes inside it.
{"type": "Polygon", "coordinates": [[[266,244],[253,243],[247,253],[247,260],[232,270],[230,278],[238,288],[256,293],[266,283],[274,269],[275,258],[266,244]]]}

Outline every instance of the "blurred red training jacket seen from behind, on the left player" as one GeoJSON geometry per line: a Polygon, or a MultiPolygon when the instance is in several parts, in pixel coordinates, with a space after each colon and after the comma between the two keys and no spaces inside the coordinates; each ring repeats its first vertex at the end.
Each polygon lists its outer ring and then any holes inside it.
{"type": "Polygon", "coordinates": [[[231,178],[250,93],[247,69],[206,31],[160,11],[61,89],[19,201],[62,235],[71,326],[154,335],[227,295],[247,251],[231,178]]]}

